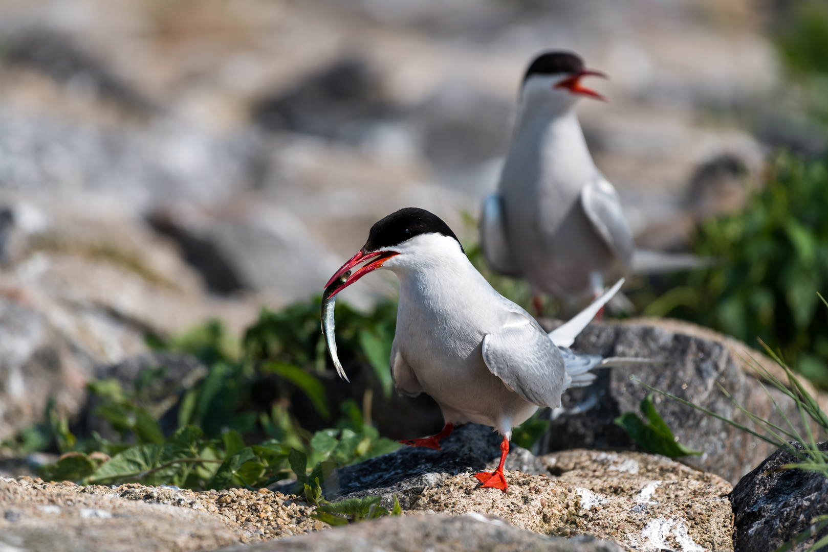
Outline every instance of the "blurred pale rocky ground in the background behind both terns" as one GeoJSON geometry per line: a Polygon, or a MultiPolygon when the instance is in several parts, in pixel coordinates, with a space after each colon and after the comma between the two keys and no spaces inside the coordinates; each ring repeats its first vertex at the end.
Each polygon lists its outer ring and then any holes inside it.
{"type": "MultiPolygon", "coordinates": [[[[165,365],[178,376],[164,389],[181,397],[215,358],[241,362],[258,351],[267,339],[256,331],[299,319],[314,327],[316,307],[301,307],[291,311],[299,318],[258,319],[239,345],[262,306],[278,312],[319,293],[394,209],[429,209],[474,244],[522,72],[539,50],[575,50],[609,74],[595,82],[609,103],[578,108],[595,161],[640,246],[692,250],[701,221],[740,212],[763,187],[777,148],[797,160],[824,154],[824,8],[805,0],[0,1],[0,437],[49,409],[86,428],[79,413],[89,411],[94,378],[120,378],[129,390],[123,373],[165,365]],[[224,326],[199,325],[209,319],[224,326]],[[180,337],[196,327],[201,338],[212,328],[235,345],[180,337]],[[218,356],[199,354],[208,342],[218,356]],[[206,367],[158,361],[159,343],[206,367]]],[[[354,366],[369,367],[376,401],[393,404],[381,373],[393,310],[359,318],[393,297],[395,282],[384,276],[344,292],[356,308],[349,316],[363,324],[345,340],[359,351],[354,366]]],[[[638,281],[638,311],[694,319],[681,309],[705,299],[693,303],[681,295],[692,286],[679,284],[638,281]],[[673,286],[680,291],[663,295],[673,286]]],[[[744,304],[767,307],[760,295],[744,304]]],[[[825,318],[815,309],[811,317],[825,318]]],[[[708,322],[745,340],[759,333],[723,319],[708,322]]],[[[320,375],[315,334],[299,334],[305,356],[291,362],[320,375]]],[[[811,376],[828,382],[828,345],[821,357],[815,343],[792,351],[808,351],[811,376]]],[[[277,354],[267,351],[260,357],[277,354]]],[[[325,386],[333,406],[370,406],[364,386],[325,386]]],[[[267,410],[277,395],[233,408],[267,410]]],[[[439,425],[423,401],[393,408],[439,425]]],[[[158,415],[170,406],[142,404],[158,415]]],[[[291,412],[306,410],[303,420],[319,429],[314,404],[299,401],[291,412]]],[[[177,411],[171,430],[195,420],[177,411]]]]}

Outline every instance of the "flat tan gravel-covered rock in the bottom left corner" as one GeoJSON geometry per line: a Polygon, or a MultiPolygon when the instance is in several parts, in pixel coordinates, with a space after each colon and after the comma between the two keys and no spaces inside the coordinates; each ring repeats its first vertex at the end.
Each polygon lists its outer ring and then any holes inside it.
{"type": "Polygon", "coordinates": [[[194,492],[7,478],[0,479],[0,550],[3,543],[54,542],[61,532],[76,539],[69,550],[134,550],[135,540],[149,550],[214,550],[328,527],[308,518],[311,511],[267,489],[194,492]]]}

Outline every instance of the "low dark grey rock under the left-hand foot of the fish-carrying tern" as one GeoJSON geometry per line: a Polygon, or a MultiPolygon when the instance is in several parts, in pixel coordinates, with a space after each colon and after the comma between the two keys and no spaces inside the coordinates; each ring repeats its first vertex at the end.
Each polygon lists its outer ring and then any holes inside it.
{"type": "MultiPolygon", "coordinates": [[[[393,496],[409,508],[426,487],[437,487],[458,473],[479,472],[500,458],[501,439],[491,428],[469,424],[457,428],[440,442],[442,450],[402,447],[391,454],[371,458],[348,468],[339,468],[325,482],[326,496],[341,498],[383,497],[383,506],[393,505],[393,496]]],[[[506,468],[542,473],[543,465],[531,453],[513,445],[506,468]]]]}

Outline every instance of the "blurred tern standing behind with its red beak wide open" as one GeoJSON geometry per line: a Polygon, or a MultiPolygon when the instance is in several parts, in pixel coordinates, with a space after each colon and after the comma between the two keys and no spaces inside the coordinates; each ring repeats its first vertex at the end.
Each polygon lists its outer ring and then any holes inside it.
{"type": "Polygon", "coordinates": [[[606,100],[581,83],[606,77],[577,55],[551,51],[526,71],[517,123],[498,191],[484,200],[480,223],[489,266],[524,276],[535,308],[555,295],[572,311],[629,272],[703,266],[693,255],[635,249],[619,194],[590,156],[575,115],[579,98],[606,100]]]}

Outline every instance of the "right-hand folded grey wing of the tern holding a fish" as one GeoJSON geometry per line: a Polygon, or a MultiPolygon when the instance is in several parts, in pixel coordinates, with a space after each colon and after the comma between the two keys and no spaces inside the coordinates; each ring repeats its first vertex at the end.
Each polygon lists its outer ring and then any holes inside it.
{"type": "Polygon", "coordinates": [[[566,377],[561,351],[532,321],[518,320],[487,334],[483,360],[490,372],[524,400],[537,406],[561,406],[566,377]]]}

